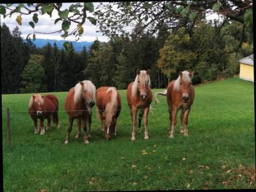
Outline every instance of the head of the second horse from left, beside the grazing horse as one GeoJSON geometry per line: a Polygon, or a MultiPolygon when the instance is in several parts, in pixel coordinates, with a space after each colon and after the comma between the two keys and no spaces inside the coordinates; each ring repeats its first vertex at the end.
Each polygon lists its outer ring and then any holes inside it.
{"type": "Polygon", "coordinates": [[[92,108],[95,105],[94,95],[95,95],[95,86],[90,81],[79,81],[79,84],[82,86],[81,97],[84,99],[85,103],[89,108],[92,108]]]}

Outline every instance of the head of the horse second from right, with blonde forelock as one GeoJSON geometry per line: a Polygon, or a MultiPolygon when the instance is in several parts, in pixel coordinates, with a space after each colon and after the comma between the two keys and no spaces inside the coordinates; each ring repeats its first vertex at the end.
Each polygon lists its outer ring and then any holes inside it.
{"type": "Polygon", "coordinates": [[[150,86],[150,70],[140,71],[137,70],[137,89],[139,91],[139,97],[141,100],[146,100],[148,97],[148,86],[150,86]]]}

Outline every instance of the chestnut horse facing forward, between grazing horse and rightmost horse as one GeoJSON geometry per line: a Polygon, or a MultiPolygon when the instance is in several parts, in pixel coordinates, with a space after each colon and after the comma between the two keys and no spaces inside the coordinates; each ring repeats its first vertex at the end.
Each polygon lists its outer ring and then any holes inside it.
{"type": "Polygon", "coordinates": [[[130,115],[132,117],[132,138],[135,140],[135,128],[137,121],[137,111],[140,110],[138,115],[138,133],[141,132],[141,122],[144,114],[144,127],[145,127],[145,139],[148,139],[148,112],[152,102],[152,90],[150,88],[150,70],[140,71],[137,70],[137,76],[135,81],[130,82],[127,87],[127,103],[129,105],[130,115]]]}

